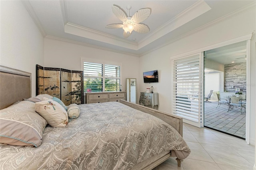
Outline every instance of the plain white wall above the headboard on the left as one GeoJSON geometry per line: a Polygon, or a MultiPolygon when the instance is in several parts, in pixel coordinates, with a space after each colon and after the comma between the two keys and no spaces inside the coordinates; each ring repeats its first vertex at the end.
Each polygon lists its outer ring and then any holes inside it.
{"type": "Polygon", "coordinates": [[[0,3],[0,65],[32,73],[32,96],[35,96],[36,64],[44,64],[44,37],[21,1],[0,3]]]}

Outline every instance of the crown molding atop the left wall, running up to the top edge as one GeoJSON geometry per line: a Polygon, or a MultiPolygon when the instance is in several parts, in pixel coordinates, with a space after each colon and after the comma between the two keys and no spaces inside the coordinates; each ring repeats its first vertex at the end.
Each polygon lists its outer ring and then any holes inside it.
{"type": "Polygon", "coordinates": [[[30,15],[30,17],[32,18],[34,23],[36,24],[38,30],[41,32],[42,36],[45,37],[46,33],[44,31],[44,28],[42,27],[42,24],[41,24],[40,20],[38,19],[36,12],[32,8],[30,2],[27,0],[22,0],[21,2],[24,5],[24,7],[26,8],[26,10],[28,11],[28,14],[30,15]]]}

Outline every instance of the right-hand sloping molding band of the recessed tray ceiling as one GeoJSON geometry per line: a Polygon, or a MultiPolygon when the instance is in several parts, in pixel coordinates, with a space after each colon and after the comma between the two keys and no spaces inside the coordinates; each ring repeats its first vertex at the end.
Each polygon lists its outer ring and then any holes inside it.
{"type": "Polygon", "coordinates": [[[204,0],[198,0],[192,6],[188,7],[186,10],[160,26],[157,30],[146,36],[143,40],[138,42],[138,49],[150,44],[154,40],[172,32],[173,30],[179,28],[180,26],[186,24],[187,22],[197,18],[198,16],[204,14],[205,12],[211,10],[210,6],[204,2],[204,0]]]}

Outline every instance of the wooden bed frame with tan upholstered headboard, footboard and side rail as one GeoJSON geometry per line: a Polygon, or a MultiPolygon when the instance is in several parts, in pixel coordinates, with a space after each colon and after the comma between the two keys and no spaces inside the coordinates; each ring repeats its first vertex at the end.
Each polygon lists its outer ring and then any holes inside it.
{"type": "MultiPolygon", "coordinates": [[[[13,68],[0,66],[0,109],[6,108],[23,98],[31,97],[31,73],[23,72],[13,68]]],[[[161,112],[152,108],[120,100],[122,104],[134,109],[146,112],[174,127],[182,136],[182,118],[161,112]]],[[[171,151],[166,151],[158,156],[154,156],[140,164],[137,164],[133,170],[150,170],[158,166],[171,156],[171,151]]],[[[181,166],[182,160],[176,158],[178,166],[181,166]]]]}

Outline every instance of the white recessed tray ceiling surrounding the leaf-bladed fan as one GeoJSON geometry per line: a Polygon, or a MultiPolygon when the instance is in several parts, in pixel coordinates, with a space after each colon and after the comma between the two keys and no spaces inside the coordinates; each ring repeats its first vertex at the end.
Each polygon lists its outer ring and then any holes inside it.
{"type": "Polygon", "coordinates": [[[250,6],[254,0],[28,0],[22,1],[48,38],[60,38],[88,46],[141,56],[180,36],[221,17],[250,6]],[[107,29],[122,22],[113,14],[112,5],[132,6],[130,16],[142,8],[151,8],[142,23],[150,32],[135,31],[123,38],[123,29],[107,29]]]}

